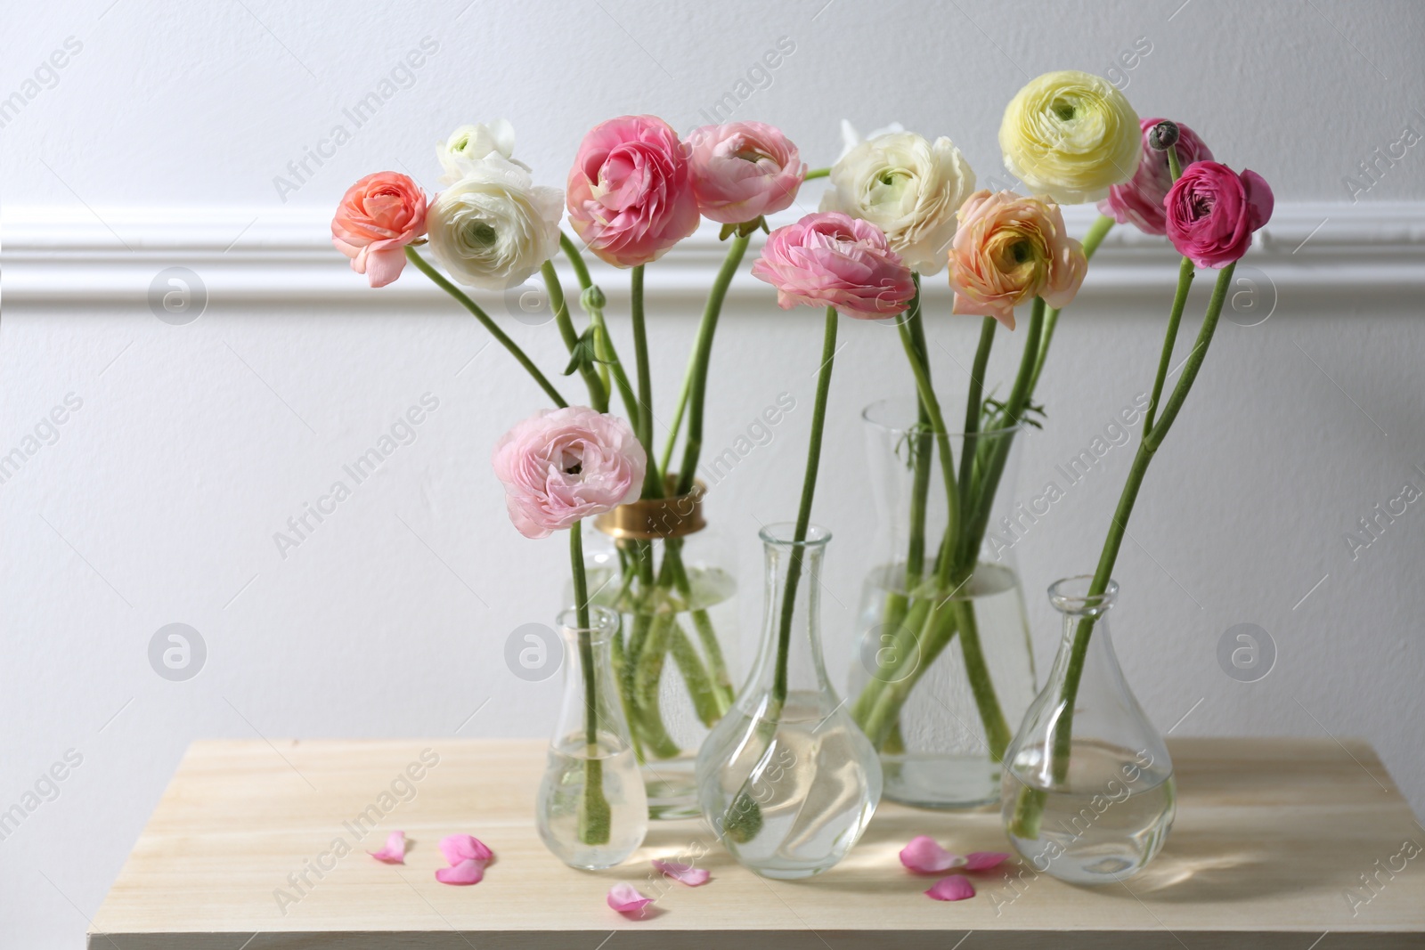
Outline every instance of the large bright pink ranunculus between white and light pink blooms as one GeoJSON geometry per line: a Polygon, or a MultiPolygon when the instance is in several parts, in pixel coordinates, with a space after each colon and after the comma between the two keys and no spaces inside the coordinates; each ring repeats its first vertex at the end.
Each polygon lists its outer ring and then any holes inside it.
{"type": "Polygon", "coordinates": [[[657,261],[698,226],[678,134],[654,115],[624,115],[584,135],[569,169],[569,224],[616,268],[657,261]]]}

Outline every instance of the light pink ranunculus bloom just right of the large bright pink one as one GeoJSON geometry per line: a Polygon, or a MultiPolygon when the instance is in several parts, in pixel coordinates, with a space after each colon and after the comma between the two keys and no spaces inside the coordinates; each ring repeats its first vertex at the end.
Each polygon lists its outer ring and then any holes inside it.
{"type": "Polygon", "coordinates": [[[797,145],[762,122],[703,125],[687,145],[698,211],[721,224],[782,211],[807,175],[797,145]]]}

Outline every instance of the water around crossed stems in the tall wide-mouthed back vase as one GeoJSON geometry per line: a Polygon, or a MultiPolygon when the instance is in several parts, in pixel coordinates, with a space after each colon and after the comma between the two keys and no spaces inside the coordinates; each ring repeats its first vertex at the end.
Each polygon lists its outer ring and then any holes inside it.
{"type": "MultiPolygon", "coordinates": [[[[909,664],[888,667],[885,651],[893,637],[885,618],[895,598],[905,593],[905,567],[874,571],[862,591],[859,662],[852,664],[851,695],[861,694],[876,677],[909,675],[925,664],[909,692],[891,735],[881,746],[885,798],[918,808],[973,808],[999,800],[1000,768],[988,753],[985,725],[960,647],[952,640],[935,657],[912,657],[909,664]],[[889,671],[889,672],[888,672],[889,671]]],[[[1019,575],[1000,564],[979,564],[975,575],[952,600],[970,604],[979,628],[986,667],[992,671],[1000,708],[1010,724],[1019,722],[1035,698],[1035,657],[1019,575]]]]}

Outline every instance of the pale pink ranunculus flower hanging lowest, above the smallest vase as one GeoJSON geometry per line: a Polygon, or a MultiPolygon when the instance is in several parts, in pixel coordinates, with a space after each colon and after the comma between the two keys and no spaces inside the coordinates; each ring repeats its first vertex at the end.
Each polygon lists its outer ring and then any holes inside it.
{"type": "Polygon", "coordinates": [[[623,419],[567,406],[504,433],[492,463],[510,521],[524,537],[542,538],[637,494],[648,460],[623,419]]]}

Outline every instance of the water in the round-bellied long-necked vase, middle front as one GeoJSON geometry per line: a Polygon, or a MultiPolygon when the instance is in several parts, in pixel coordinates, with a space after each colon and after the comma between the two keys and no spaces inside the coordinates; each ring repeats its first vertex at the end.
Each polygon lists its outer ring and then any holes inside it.
{"type": "Polygon", "coordinates": [[[704,775],[703,800],[720,815],[722,843],[764,877],[807,877],[844,856],[876,808],[874,756],[845,708],[794,691],[775,722],[734,708],[714,732],[730,759],[704,775]]]}

